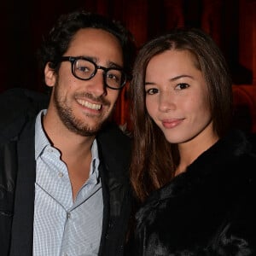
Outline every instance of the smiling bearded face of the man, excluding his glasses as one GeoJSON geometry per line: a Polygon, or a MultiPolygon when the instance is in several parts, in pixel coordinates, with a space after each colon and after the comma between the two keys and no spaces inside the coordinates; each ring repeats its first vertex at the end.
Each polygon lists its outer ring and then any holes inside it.
{"type": "MultiPolygon", "coordinates": [[[[79,30],[65,56],[84,56],[102,67],[123,67],[118,39],[101,29],[79,30]]],[[[113,112],[119,90],[104,85],[102,69],[92,79],[80,80],[73,76],[71,67],[70,61],[61,62],[58,75],[46,67],[46,84],[53,86],[48,112],[69,131],[95,135],[113,112]],[[51,79],[47,79],[48,74],[51,79]]]]}

